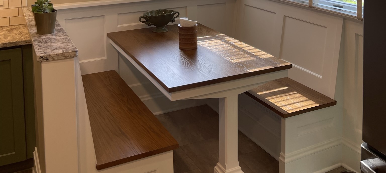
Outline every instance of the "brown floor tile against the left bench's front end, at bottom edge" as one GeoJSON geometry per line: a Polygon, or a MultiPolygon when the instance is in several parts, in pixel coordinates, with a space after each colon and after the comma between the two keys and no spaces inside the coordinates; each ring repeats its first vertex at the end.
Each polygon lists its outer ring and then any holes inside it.
{"type": "Polygon", "coordinates": [[[198,168],[181,148],[173,150],[173,161],[174,173],[184,173],[198,168]]]}

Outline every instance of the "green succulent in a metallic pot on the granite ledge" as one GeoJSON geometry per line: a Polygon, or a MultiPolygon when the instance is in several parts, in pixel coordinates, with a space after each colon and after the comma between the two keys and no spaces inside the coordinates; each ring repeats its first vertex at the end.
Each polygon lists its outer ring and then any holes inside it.
{"type": "Polygon", "coordinates": [[[37,0],[32,6],[37,34],[52,34],[55,32],[56,10],[50,0],[37,0]]]}

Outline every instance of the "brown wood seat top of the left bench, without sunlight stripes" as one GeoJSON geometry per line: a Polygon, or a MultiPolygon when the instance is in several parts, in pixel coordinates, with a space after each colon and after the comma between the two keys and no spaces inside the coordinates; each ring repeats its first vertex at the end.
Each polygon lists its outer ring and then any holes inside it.
{"type": "Polygon", "coordinates": [[[82,75],[97,158],[97,170],[178,148],[114,70],[82,75]]]}

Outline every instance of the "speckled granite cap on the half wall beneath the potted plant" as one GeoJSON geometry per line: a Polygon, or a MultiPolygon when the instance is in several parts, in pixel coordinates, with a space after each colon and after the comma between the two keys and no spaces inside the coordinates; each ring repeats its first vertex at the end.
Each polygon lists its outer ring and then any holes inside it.
{"type": "Polygon", "coordinates": [[[75,58],[78,49],[68,37],[66,31],[56,20],[55,33],[39,35],[36,32],[35,20],[31,7],[23,7],[24,17],[27,22],[32,45],[35,49],[37,61],[46,62],[59,59],[75,58]]]}

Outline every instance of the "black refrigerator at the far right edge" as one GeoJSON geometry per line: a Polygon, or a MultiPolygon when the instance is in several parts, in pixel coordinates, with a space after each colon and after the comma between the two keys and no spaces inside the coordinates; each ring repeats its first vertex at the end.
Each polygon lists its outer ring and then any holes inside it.
{"type": "Polygon", "coordinates": [[[362,173],[386,173],[386,0],[365,0],[362,173]]]}

